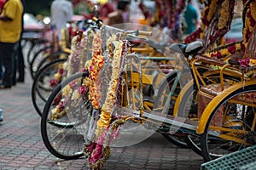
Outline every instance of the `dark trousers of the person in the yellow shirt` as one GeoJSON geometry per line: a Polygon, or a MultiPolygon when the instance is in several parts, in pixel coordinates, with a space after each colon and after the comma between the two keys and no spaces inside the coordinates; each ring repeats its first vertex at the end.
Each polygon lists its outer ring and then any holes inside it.
{"type": "Polygon", "coordinates": [[[15,72],[15,56],[19,43],[0,42],[0,59],[3,64],[3,85],[11,87],[15,72]]]}

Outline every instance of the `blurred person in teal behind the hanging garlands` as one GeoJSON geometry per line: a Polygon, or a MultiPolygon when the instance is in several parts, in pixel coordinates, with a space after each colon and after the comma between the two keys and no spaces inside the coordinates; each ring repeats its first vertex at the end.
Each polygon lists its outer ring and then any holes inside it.
{"type": "Polygon", "coordinates": [[[191,34],[196,30],[198,25],[198,14],[195,7],[192,5],[191,0],[188,1],[187,8],[184,13],[184,18],[186,20],[186,30],[184,34],[191,34]]]}

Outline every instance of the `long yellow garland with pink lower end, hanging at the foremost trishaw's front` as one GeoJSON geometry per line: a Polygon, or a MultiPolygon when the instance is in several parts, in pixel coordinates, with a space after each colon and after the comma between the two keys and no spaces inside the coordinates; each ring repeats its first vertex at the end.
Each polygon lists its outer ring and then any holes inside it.
{"type": "MultiPolygon", "coordinates": [[[[122,59],[123,42],[115,43],[115,49],[112,53],[113,41],[116,41],[116,36],[108,38],[107,51],[109,59],[112,60],[112,75],[108,84],[108,94],[102,105],[102,112],[96,126],[96,142],[92,142],[84,147],[84,156],[86,162],[92,169],[101,169],[104,161],[110,156],[108,144],[117,136],[118,126],[110,129],[110,124],[113,122],[112,112],[116,102],[117,88],[120,61],[122,59]],[[110,133],[109,133],[110,132],[110,133]],[[104,144],[107,143],[107,144],[104,144]]],[[[91,65],[90,65],[91,66],[91,65]]],[[[91,78],[91,77],[90,77],[91,78]]],[[[91,87],[90,87],[91,88],[91,87]]],[[[91,93],[91,92],[90,92],[91,93]]]]}

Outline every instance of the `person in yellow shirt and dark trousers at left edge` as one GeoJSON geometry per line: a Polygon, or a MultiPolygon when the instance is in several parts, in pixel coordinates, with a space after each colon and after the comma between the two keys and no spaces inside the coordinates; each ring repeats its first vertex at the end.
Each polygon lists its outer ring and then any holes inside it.
{"type": "Polygon", "coordinates": [[[0,60],[4,67],[0,89],[11,88],[15,71],[15,55],[22,30],[23,6],[20,0],[7,0],[0,14],[0,60]]]}

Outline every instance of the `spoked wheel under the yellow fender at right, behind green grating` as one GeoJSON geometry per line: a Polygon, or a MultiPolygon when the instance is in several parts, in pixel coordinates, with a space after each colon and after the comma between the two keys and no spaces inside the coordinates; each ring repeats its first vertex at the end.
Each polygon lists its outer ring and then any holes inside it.
{"type": "Polygon", "coordinates": [[[201,150],[205,161],[256,144],[256,85],[240,85],[241,88],[229,91],[230,94],[223,99],[220,99],[222,96],[216,97],[220,102],[212,108],[201,136],[201,150]]]}

